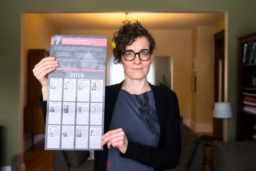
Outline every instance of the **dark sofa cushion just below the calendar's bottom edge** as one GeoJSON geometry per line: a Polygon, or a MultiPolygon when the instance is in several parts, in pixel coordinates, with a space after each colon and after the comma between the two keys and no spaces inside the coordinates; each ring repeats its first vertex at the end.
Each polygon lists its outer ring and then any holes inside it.
{"type": "Polygon", "coordinates": [[[63,151],[71,167],[80,166],[89,156],[88,151],[63,151]]]}

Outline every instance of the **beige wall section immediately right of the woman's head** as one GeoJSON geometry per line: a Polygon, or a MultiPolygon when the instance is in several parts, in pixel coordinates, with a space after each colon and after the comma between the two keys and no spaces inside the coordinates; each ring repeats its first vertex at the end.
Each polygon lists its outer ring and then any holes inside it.
{"type": "Polygon", "coordinates": [[[190,30],[151,30],[157,43],[156,56],[173,57],[173,90],[179,99],[180,115],[190,120],[190,30]],[[182,85],[182,86],[181,86],[182,85]]]}

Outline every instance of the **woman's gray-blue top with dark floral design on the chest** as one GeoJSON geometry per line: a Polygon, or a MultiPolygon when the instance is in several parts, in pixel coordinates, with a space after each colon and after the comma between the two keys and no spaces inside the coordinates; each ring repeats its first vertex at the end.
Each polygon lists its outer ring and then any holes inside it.
{"type": "MultiPolygon", "coordinates": [[[[160,126],[152,91],[134,95],[120,90],[113,112],[110,130],[122,128],[127,139],[150,147],[156,147],[160,136],[160,126]]],[[[108,171],[154,170],[137,161],[122,158],[119,149],[111,147],[108,153],[108,171]]]]}

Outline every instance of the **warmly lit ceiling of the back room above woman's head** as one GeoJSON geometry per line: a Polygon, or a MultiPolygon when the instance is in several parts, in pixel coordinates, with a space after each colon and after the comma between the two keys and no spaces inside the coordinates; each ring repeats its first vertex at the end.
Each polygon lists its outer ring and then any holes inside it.
{"type": "Polygon", "coordinates": [[[160,13],[37,13],[59,29],[117,29],[123,21],[138,20],[147,29],[193,29],[224,20],[224,12],[160,13]]]}

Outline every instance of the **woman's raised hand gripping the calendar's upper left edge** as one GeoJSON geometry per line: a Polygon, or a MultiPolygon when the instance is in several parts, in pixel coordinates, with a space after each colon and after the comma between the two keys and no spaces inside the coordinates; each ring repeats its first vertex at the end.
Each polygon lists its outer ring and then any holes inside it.
{"type": "Polygon", "coordinates": [[[48,74],[56,67],[58,67],[58,61],[55,60],[55,57],[48,56],[38,62],[33,69],[34,76],[42,85],[43,100],[47,99],[48,74]]]}

